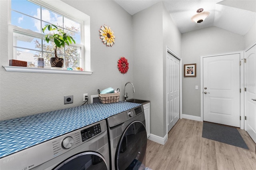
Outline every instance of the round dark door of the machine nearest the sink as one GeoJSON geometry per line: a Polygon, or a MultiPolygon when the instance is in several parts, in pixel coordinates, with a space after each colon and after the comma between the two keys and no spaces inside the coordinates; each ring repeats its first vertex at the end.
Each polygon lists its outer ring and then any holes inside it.
{"type": "Polygon", "coordinates": [[[145,168],[147,132],[140,121],[132,122],[122,134],[116,151],[116,169],[145,168]]]}

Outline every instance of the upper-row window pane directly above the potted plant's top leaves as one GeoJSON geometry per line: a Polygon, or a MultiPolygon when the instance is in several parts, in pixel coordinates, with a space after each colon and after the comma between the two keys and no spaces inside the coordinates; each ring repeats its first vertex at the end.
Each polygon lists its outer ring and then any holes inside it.
{"type": "Polygon", "coordinates": [[[42,8],[42,20],[50,24],[63,27],[63,17],[45,8],[42,8]]]}

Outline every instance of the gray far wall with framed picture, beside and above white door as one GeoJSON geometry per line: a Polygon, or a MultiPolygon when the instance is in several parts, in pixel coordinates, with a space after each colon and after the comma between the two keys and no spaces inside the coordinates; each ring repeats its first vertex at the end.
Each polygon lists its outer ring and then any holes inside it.
{"type": "Polygon", "coordinates": [[[196,63],[197,71],[196,77],[182,76],[182,112],[200,117],[200,56],[244,50],[244,37],[209,27],[182,34],[181,46],[182,64],[196,63]],[[198,90],[195,89],[196,85],[198,90]]]}

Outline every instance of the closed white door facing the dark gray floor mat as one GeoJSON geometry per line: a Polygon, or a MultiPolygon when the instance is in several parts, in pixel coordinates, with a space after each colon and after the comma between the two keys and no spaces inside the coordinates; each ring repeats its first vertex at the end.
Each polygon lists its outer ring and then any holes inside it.
{"type": "Polygon", "coordinates": [[[240,54],[203,58],[204,121],[240,127],[240,54]]]}

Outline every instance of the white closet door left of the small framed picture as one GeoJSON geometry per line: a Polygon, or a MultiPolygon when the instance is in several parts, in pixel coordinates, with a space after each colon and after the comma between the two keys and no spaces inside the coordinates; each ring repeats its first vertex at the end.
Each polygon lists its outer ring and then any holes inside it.
{"type": "Polygon", "coordinates": [[[167,75],[167,126],[168,132],[180,119],[180,60],[172,54],[167,53],[166,58],[167,75]]]}

